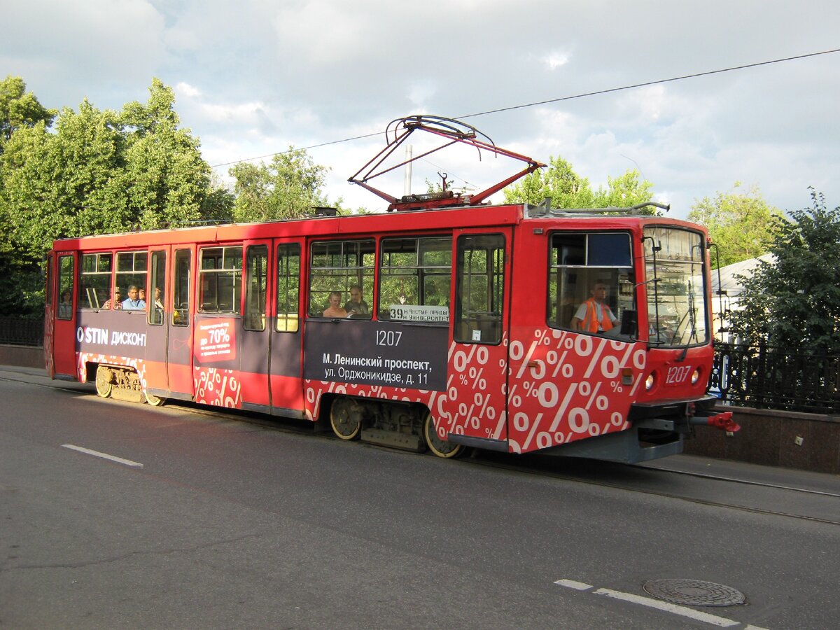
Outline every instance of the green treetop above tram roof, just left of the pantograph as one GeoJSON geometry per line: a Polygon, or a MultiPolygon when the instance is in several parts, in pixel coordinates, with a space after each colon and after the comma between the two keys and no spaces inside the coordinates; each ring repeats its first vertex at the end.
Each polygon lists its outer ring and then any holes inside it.
{"type": "Polygon", "coordinates": [[[269,165],[238,164],[230,169],[236,178],[234,220],[276,221],[312,214],[313,207],[328,206],[321,188],[328,169],[312,162],[305,150],[275,155],[269,165]]]}

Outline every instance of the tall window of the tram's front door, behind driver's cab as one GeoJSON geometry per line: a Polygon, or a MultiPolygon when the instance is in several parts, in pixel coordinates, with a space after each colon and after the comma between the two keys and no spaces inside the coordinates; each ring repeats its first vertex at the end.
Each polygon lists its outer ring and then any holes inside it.
{"type": "Polygon", "coordinates": [[[466,344],[501,342],[504,274],[505,239],[501,234],[459,237],[456,341],[466,344]]]}

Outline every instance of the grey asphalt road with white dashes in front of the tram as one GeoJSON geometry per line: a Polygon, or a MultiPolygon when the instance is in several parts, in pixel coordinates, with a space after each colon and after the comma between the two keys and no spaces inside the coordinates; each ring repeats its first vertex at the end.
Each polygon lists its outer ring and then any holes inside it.
{"type": "MultiPolygon", "coordinates": [[[[837,477],[739,469],[802,495],[588,462],[447,461],[2,368],[0,401],[0,628],[840,619],[837,477]],[[650,607],[643,585],[678,578],[746,604],[650,607]]],[[[663,462],[680,463],[702,467],[663,462]]]]}

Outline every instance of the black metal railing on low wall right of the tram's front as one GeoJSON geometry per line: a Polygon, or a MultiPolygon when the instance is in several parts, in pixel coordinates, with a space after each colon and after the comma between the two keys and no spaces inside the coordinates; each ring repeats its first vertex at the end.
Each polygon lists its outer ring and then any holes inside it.
{"type": "Polygon", "coordinates": [[[840,357],[716,344],[711,391],[740,407],[840,413],[840,357]]]}

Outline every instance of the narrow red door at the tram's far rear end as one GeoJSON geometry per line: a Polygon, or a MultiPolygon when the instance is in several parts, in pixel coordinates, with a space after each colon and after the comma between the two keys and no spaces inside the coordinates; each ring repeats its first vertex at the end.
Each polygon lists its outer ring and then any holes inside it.
{"type": "Polygon", "coordinates": [[[45,347],[45,353],[52,357],[51,366],[48,359],[51,376],[76,374],[76,261],[76,252],[71,251],[55,252],[55,268],[50,261],[55,280],[50,280],[48,287],[53,312],[48,312],[46,318],[45,346],[50,347],[45,347]]]}

